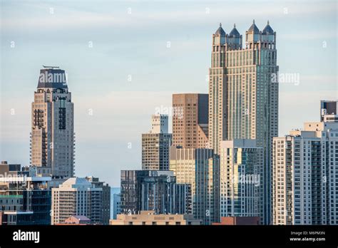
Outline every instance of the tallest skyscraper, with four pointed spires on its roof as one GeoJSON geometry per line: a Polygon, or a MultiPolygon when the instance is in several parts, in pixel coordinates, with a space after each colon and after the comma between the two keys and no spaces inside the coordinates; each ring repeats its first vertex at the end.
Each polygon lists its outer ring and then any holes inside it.
{"type": "Polygon", "coordinates": [[[262,217],[270,224],[272,138],[278,135],[276,32],[269,22],[260,31],[253,21],[242,35],[234,25],[212,34],[209,70],[209,143],[220,154],[221,140],[252,139],[263,148],[262,217]]]}

